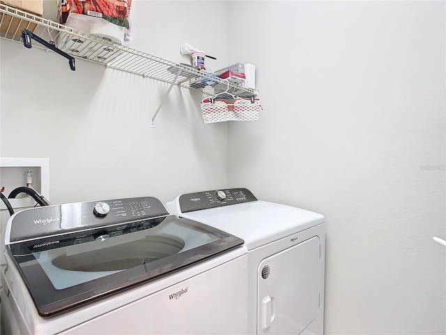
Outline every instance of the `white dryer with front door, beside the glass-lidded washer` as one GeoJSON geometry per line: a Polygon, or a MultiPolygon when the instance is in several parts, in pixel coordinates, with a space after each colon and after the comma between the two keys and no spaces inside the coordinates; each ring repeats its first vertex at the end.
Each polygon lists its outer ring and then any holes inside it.
{"type": "Polygon", "coordinates": [[[183,194],[166,207],[245,240],[249,334],[323,334],[321,214],[257,200],[246,188],[183,194]]]}

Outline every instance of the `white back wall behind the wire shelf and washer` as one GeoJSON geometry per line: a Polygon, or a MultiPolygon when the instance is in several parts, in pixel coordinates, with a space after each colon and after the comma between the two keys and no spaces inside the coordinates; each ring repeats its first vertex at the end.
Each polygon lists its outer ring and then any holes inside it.
{"type": "MultiPolygon", "coordinates": [[[[45,1],[45,17],[56,20],[54,8],[56,1],[45,1]]],[[[187,42],[218,58],[208,68],[223,67],[226,22],[197,29],[188,17],[226,10],[224,1],[134,0],[130,46],[190,64],[179,52],[187,42]]],[[[168,201],[226,186],[227,124],[203,124],[198,92],[174,87],[151,128],[168,84],[83,60],[72,72],[54,52],[5,40],[0,47],[1,156],[48,157],[53,204],[139,195],[168,201]]]]}

